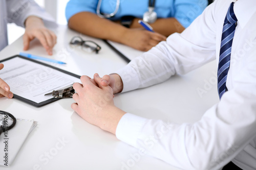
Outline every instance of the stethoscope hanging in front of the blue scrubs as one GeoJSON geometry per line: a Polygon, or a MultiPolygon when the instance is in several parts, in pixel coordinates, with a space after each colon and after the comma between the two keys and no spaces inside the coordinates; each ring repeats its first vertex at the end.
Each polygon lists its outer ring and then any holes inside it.
{"type": "MultiPolygon", "coordinates": [[[[118,12],[118,9],[120,7],[120,0],[116,1],[116,9],[114,12],[112,12],[110,14],[100,12],[101,2],[102,2],[102,0],[98,1],[98,5],[97,5],[97,9],[96,9],[96,13],[99,17],[111,18],[116,15],[116,13],[118,12]]],[[[157,19],[157,13],[154,11],[156,0],[153,0],[153,2],[151,2],[151,0],[148,0],[148,2],[149,2],[148,3],[148,11],[143,14],[143,21],[148,22],[148,23],[153,23],[157,19]]]]}

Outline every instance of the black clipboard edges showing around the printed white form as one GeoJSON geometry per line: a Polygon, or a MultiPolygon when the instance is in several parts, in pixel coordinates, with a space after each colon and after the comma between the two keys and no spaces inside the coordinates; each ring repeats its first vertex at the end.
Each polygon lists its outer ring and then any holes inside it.
{"type": "MultiPolygon", "coordinates": [[[[1,60],[0,63],[4,63],[5,61],[8,61],[8,60],[11,60],[11,59],[14,59],[14,58],[20,58],[20,59],[24,59],[24,60],[28,60],[28,61],[32,61],[33,63],[37,63],[37,64],[40,64],[42,66],[45,66],[46,68],[50,68],[50,69],[54,69],[54,70],[57,70],[57,71],[60,71],[61,73],[63,74],[66,74],[66,75],[69,75],[71,77],[74,77],[74,78],[77,78],[77,79],[80,79],[81,76],[78,76],[78,75],[75,75],[69,71],[66,71],[66,70],[62,70],[60,68],[57,68],[57,67],[54,67],[52,65],[49,65],[49,64],[46,64],[46,63],[42,63],[42,62],[39,62],[39,61],[36,61],[36,60],[33,60],[33,59],[30,59],[30,58],[26,58],[26,57],[23,57],[23,56],[20,56],[20,55],[15,55],[15,56],[12,56],[12,57],[9,57],[9,58],[6,58],[4,60],[1,60]]],[[[5,63],[4,63],[5,64],[5,63]]],[[[1,70],[2,71],[2,70],[1,70]]],[[[0,73],[1,73],[0,71],[0,73]]],[[[4,71],[4,70],[3,70],[4,71]]],[[[0,76],[1,78],[1,76],[0,76]]],[[[10,85],[10,84],[8,84],[10,85]]],[[[56,90],[56,89],[55,89],[56,90]]],[[[11,87],[11,91],[12,91],[12,87],[11,87]]],[[[45,106],[49,103],[52,103],[52,102],[55,102],[55,101],[58,101],[60,100],[61,98],[51,98],[48,99],[48,100],[45,100],[45,101],[42,101],[42,102],[35,102],[35,101],[32,101],[32,100],[29,100],[29,99],[26,99],[24,96],[20,96],[20,95],[17,95],[13,92],[13,98],[15,99],[18,99],[20,101],[23,101],[25,103],[28,103],[30,105],[33,105],[35,107],[41,107],[41,106],[45,106]]]]}

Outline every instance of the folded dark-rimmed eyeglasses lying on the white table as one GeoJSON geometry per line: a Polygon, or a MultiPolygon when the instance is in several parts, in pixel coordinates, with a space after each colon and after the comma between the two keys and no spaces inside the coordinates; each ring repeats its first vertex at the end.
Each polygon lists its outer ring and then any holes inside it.
{"type": "Polygon", "coordinates": [[[70,41],[71,45],[82,46],[82,49],[87,52],[95,52],[98,54],[101,47],[93,41],[84,41],[81,37],[75,36],[70,41]]]}

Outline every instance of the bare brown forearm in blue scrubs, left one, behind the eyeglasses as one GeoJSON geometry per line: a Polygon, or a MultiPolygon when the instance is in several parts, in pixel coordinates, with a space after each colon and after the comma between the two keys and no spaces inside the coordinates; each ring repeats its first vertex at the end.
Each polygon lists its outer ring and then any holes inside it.
{"type": "Polygon", "coordinates": [[[91,12],[80,12],[69,19],[69,28],[92,37],[123,43],[122,37],[127,28],[100,18],[91,12]]]}

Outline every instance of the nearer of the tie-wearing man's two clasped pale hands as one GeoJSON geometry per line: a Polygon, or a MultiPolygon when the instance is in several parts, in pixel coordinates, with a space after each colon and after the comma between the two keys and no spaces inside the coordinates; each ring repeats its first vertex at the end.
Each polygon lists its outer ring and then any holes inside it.
{"type": "Polygon", "coordinates": [[[71,108],[90,124],[115,134],[118,122],[125,112],[115,107],[112,88],[102,86],[98,74],[94,75],[93,81],[82,76],[81,82],[82,84],[73,85],[77,93],[73,94],[76,103],[71,108]]]}

